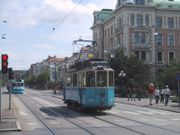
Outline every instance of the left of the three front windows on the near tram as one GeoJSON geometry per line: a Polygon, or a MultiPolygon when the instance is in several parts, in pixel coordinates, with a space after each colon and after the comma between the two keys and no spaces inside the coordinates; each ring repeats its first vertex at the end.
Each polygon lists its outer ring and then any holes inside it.
{"type": "Polygon", "coordinates": [[[86,86],[95,87],[95,72],[89,71],[86,73],[86,86]]]}

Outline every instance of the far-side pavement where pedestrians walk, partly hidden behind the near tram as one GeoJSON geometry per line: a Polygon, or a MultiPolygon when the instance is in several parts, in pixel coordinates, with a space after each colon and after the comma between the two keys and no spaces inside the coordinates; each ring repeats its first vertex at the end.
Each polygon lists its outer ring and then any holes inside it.
{"type": "MultiPolygon", "coordinates": [[[[56,95],[52,95],[55,98],[63,99],[63,96],[59,93],[56,95]]],[[[172,103],[171,100],[169,100],[169,104],[165,106],[163,103],[155,104],[155,99],[153,99],[153,105],[149,105],[149,99],[148,98],[142,98],[141,101],[136,99],[136,101],[128,101],[127,98],[120,98],[115,97],[115,102],[120,104],[129,104],[129,105],[136,105],[141,107],[148,107],[148,108],[155,108],[160,110],[166,110],[166,111],[172,111],[180,113],[180,107],[178,106],[178,103],[172,103]]]]}

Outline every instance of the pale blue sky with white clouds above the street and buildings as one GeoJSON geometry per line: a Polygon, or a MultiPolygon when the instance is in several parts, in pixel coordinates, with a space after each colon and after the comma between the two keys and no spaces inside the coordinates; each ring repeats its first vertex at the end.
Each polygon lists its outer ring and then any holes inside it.
{"type": "Polygon", "coordinates": [[[13,70],[48,56],[70,57],[73,40],[92,39],[93,12],[115,9],[116,1],[0,0],[0,54],[8,54],[13,70]]]}

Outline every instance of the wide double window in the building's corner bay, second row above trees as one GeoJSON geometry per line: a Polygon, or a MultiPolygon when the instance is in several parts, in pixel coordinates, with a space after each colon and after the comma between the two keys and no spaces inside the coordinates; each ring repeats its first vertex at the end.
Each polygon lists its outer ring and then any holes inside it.
{"type": "Polygon", "coordinates": [[[146,43],[146,33],[145,32],[135,32],[134,33],[134,43],[136,43],[136,44],[146,43]]]}

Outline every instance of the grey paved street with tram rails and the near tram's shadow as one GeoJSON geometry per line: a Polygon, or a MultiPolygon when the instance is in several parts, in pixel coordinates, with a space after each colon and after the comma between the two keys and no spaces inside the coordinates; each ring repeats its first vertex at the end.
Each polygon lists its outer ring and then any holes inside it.
{"type": "Polygon", "coordinates": [[[52,91],[27,89],[14,95],[23,135],[179,135],[180,114],[171,111],[116,103],[105,113],[80,113],[53,97],[52,91]]]}

